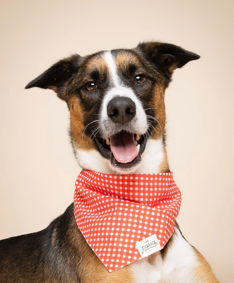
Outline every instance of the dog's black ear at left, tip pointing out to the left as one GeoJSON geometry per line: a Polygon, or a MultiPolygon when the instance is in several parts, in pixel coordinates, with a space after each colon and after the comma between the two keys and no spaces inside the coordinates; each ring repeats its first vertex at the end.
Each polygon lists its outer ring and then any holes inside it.
{"type": "Polygon", "coordinates": [[[80,55],[74,54],[58,61],[44,73],[28,83],[25,88],[49,88],[55,91],[59,98],[66,100],[64,94],[65,84],[77,73],[80,58],[80,55]]]}

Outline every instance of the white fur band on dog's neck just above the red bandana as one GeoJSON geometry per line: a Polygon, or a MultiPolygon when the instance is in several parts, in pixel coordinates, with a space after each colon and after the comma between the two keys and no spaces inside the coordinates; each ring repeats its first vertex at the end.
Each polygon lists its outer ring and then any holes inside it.
{"type": "MultiPolygon", "coordinates": [[[[124,172],[114,171],[110,167],[110,161],[105,159],[96,150],[83,151],[76,149],[76,157],[80,167],[107,174],[124,174],[124,172]]],[[[141,173],[166,173],[169,172],[167,152],[163,139],[148,139],[146,149],[141,156],[141,163],[136,166],[133,174],[141,173]]]]}

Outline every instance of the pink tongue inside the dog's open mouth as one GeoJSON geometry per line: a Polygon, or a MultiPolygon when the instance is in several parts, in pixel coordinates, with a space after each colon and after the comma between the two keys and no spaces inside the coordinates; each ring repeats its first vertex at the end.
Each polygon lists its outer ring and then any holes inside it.
{"type": "Polygon", "coordinates": [[[134,134],[121,132],[110,137],[111,151],[115,159],[121,163],[131,162],[137,155],[134,134]]]}

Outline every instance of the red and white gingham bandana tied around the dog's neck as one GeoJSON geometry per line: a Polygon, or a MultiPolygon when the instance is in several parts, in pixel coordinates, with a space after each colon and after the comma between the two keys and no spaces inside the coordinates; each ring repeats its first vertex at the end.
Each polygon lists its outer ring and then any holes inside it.
{"type": "Polygon", "coordinates": [[[83,170],[75,182],[77,225],[109,272],[142,259],[141,249],[153,243],[158,243],[155,251],[162,249],[174,232],[180,205],[172,172],[111,175],[83,170]],[[146,241],[149,236],[156,240],[146,241]],[[140,241],[145,246],[138,249],[140,241]]]}

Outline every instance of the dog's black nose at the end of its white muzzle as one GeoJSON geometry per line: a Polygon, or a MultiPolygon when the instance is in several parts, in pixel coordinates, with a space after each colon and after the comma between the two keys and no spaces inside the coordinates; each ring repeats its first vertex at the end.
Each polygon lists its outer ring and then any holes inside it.
{"type": "Polygon", "coordinates": [[[127,123],[136,115],[136,104],[128,97],[113,98],[107,104],[107,114],[115,123],[127,123]]]}

